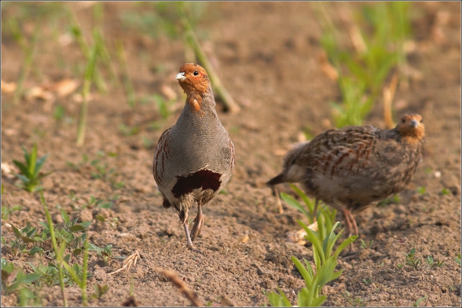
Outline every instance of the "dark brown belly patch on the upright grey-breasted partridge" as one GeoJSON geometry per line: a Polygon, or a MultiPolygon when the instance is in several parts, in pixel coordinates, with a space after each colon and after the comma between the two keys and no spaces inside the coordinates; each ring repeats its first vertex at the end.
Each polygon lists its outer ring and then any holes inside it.
{"type": "Polygon", "coordinates": [[[177,176],[178,181],[172,188],[175,198],[192,193],[194,189],[212,189],[214,192],[220,189],[221,174],[210,170],[200,170],[188,176],[177,176]]]}

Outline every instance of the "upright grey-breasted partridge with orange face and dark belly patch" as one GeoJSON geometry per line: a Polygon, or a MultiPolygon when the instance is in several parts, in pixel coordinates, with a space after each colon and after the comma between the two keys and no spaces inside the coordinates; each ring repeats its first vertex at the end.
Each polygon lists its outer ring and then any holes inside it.
{"type": "Polygon", "coordinates": [[[218,119],[212,86],[205,70],[183,64],[176,75],[187,94],[176,124],[159,138],[153,174],[164,197],[163,206],[178,213],[187,246],[200,252],[193,241],[204,222],[202,206],[228,182],[234,168],[234,146],[218,119]],[[197,216],[189,232],[188,213],[197,202],[197,216]]]}

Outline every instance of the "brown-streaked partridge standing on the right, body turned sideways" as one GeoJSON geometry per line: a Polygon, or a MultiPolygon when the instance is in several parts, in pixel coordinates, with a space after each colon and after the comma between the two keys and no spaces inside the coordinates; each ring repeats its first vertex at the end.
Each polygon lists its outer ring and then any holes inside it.
{"type": "Polygon", "coordinates": [[[422,157],[422,117],[408,114],[392,130],[348,126],[297,143],[284,157],[283,171],[267,184],[301,183],[307,194],[342,211],[347,232],[358,234],[351,214],[402,191],[422,157]]]}

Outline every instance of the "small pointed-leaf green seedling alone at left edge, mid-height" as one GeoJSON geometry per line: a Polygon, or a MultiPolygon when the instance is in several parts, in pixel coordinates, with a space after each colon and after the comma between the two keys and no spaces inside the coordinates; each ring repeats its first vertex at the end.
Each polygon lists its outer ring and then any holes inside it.
{"type": "Polygon", "coordinates": [[[22,151],[24,152],[24,159],[26,163],[21,163],[13,160],[13,163],[19,168],[21,174],[14,174],[22,182],[22,189],[29,192],[35,192],[40,189],[40,180],[49,175],[49,173],[39,174],[45,160],[47,160],[48,154],[37,159],[37,144],[34,144],[32,151],[29,153],[23,146],[22,151]]]}

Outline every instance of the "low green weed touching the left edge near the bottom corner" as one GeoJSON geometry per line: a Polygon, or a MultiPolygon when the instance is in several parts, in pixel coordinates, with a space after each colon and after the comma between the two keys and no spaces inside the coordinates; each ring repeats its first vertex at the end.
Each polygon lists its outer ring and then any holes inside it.
{"type": "Polygon", "coordinates": [[[40,279],[39,274],[25,274],[18,268],[15,268],[13,263],[9,263],[3,258],[0,262],[2,269],[2,295],[19,292],[19,287],[22,285],[31,285],[31,283],[40,279]]]}

